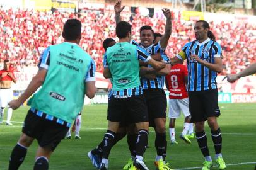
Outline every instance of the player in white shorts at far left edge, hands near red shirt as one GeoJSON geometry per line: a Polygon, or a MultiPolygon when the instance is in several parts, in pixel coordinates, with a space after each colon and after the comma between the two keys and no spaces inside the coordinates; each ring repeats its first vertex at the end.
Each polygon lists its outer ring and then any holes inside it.
{"type": "Polygon", "coordinates": [[[13,99],[11,82],[16,83],[16,78],[13,74],[13,71],[11,71],[9,67],[9,60],[4,60],[4,69],[0,71],[0,123],[3,121],[4,108],[8,107],[6,125],[13,125],[11,123],[11,115],[13,115],[13,109],[8,106],[8,103],[13,99]]]}

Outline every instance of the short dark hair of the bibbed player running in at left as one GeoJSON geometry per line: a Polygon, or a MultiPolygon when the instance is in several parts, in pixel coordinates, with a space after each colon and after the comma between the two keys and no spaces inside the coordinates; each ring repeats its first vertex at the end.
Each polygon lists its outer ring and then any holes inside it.
{"type": "Polygon", "coordinates": [[[74,41],[81,36],[82,24],[77,19],[68,19],[64,23],[62,36],[67,41],[74,41]]]}

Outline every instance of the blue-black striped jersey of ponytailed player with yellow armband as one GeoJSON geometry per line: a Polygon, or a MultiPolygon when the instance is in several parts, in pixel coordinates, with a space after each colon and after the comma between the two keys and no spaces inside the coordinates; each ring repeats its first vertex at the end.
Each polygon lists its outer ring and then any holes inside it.
{"type": "Polygon", "coordinates": [[[204,91],[209,89],[217,89],[217,72],[211,71],[204,65],[190,59],[190,55],[198,55],[201,59],[209,63],[214,63],[214,57],[222,57],[221,45],[218,42],[207,38],[206,41],[199,43],[197,40],[185,44],[176,57],[179,59],[187,59],[188,91],[204,91]]]}

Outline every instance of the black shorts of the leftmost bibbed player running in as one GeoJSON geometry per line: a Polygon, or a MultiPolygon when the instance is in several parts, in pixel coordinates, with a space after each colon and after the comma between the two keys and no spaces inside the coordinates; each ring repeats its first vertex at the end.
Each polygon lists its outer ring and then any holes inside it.
{"type": "Polygon", "coordinates": [[[54,151],[59,142],[64,139],[69,127],[46,120],[28,110],[22,132],[37,139],[40,147],[49,147],[54,151]]]}

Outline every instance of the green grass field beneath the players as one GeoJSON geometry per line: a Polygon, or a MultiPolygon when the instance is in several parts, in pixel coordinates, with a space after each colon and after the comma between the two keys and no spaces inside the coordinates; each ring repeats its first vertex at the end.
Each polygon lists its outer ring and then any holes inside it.
{"type": "MultiPolygon", "coordinates": [[[[256,105],[255,103],[235,103],[220,105],[221,116],[218,119],[223,137],[223,157],[228,164],[227,169],[250,170],[256,165],[256,105]]],[[[8,169],[8,160],[11,150],[20,137],[21,125],[25,118],[28,107],[21,106],[13,113],[13,126],[0,125],[0,170],[8,169]]],[[[50,159],[50,169],[95,169],[87,157],[87,152],[93,149],[103,138],[107,128],[107,105],[85,106],[83,111],[83,122],[81,129],[81,140],[62,140],[50,159]]],[[[4,114],[6,120],[6,113],[4,114]]],[[[168,129],[168,123],[166,128],[168,129]]],[[[172,169],[201,169],[204,161],[195,139],[192,144],[185,144],[178,138],[182,131],[183,118],[179,118],[176,123],[176,139],[178,145],[170,145],[170,137],[167,132],[168,152],[166,161],[170,162],[172,169]]],[[[154,168],[154,132],[150,129],[149,148],[144,155],[149,169],[154,168]]],[[[212,158],[214,158],[214,147],[206,128],[208,145],[212,158]]],[[[37,142],[35,141],[20,169],[33,169],[37,142]]],[[[129,159],[129,149],[126,137],[113,147],[110,154],[110,170],[120,170],[129,159]]],[[[214,166],[212,169],[218,169],[214,166]]]]}

